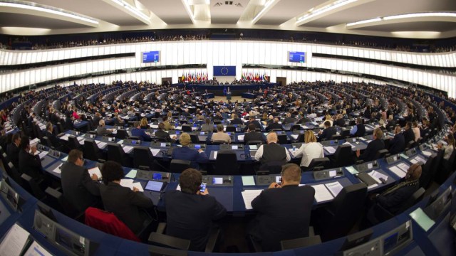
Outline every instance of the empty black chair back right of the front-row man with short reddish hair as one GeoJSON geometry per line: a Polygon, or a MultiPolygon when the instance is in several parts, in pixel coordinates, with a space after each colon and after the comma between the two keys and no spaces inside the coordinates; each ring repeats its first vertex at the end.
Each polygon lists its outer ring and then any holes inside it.
{"type": "Polygon", "coordinates": [[[368,188],[364,183],[356,183],[344,187],[331,202],[333,218],[327,220],[322,228],[321,238],[332,240],[346,235],[353,228],[363,213],[364,201],[368,188]],[[350,206],[350,207],[347,207],[350,206]]]}

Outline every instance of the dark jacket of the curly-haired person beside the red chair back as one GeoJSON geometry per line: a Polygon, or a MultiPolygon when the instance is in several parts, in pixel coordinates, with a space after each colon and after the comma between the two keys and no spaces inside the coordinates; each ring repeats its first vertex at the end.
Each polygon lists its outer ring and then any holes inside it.
{"type": "Polygon", "coordinates": [[[100,186],[100,195],[105,210],[117,216],[133,233],[142,229],[142,223],[148,218],[140,208],[152,208],[154,204],[142,192],[133,192],[130,188],[110,182],[100,186]]]}

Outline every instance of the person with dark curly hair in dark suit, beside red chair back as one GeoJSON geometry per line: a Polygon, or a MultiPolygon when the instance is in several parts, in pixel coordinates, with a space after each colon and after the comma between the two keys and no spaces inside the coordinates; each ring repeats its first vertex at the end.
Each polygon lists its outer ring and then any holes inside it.
{"type": "Polygon", "coordinates": [[[136,187],[132,190],[120,186],[124,174],[122,166],[115,161],[106,161],[101,168],[101,175],[103,185],[100,186],[100,196],[105,210],[114,213],[133,233],[139,233],[145,220],[150,218],[141,209],[152,208],[152,200],[136,187]]]}

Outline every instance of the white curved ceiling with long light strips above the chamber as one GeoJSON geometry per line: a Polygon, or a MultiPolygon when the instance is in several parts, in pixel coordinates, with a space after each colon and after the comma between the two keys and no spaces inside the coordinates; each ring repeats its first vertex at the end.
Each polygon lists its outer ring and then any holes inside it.
{"type": "MultiPolygon", "coordinates": [[[[15,1],[15,0],[11,0],[15,1]]],[[[48,28],[46,34],[91,33],[163,28],[266,28],[296,31],[352,33],[371,36],[433,38],[456,36],[456,17],[413,18],[410,20],[347,23],[371,18],[422,12],[456,12],[455,0],[35,0],[98,20],[88,26],[71,18],[56,18],[39,11],[1,6],[0,27],[48,28]],[[121,2],[123,1],[123,2],[121,2]],[[299,22],[299,18],[328,4],[347,1],[345,6],[299,22]],[[128,8],[125,8],[127,6],[128,8]],[[132,11],[133,10],[133,11],[132,11]],[[138,14],[140,13],[140,14],[138,14]],[[146,18],[140,18],[146,17],[146,18]],[[63,21],[62,21],[63,20],[63,21]],[[407,32],[407,33],[401,33],[407,32]],[[405,36],[407,35],[407,36],[405,36]]],[[[22,1],[28,2],[28,1],[22,1]]],[[[30,3],[30,2],[28,2],[30,3]]],[[[22,30],[21,30],[22,31],[22,30]]],[[[32,30],[31,30],[32,31],[32,30]]],[[[14,33],[11,28],[0,33],[14,33]]],[[[36,32],[31,32],[33,35],[36,32]]]]}

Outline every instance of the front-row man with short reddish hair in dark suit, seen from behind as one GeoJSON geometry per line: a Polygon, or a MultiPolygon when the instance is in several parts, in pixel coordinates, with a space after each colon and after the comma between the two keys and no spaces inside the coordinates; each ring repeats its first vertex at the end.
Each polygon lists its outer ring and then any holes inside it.
{"type": "Polygon", "coordinates": [[[264,252],[281,250],[281,240],[309,236],[315,189],[299,186],[300,181],[299,166],[286,164],[282,166],[281,185],[271,183],[252,201],[257,218],[250,223],[247,233],[261,243],[264,252]]]}

